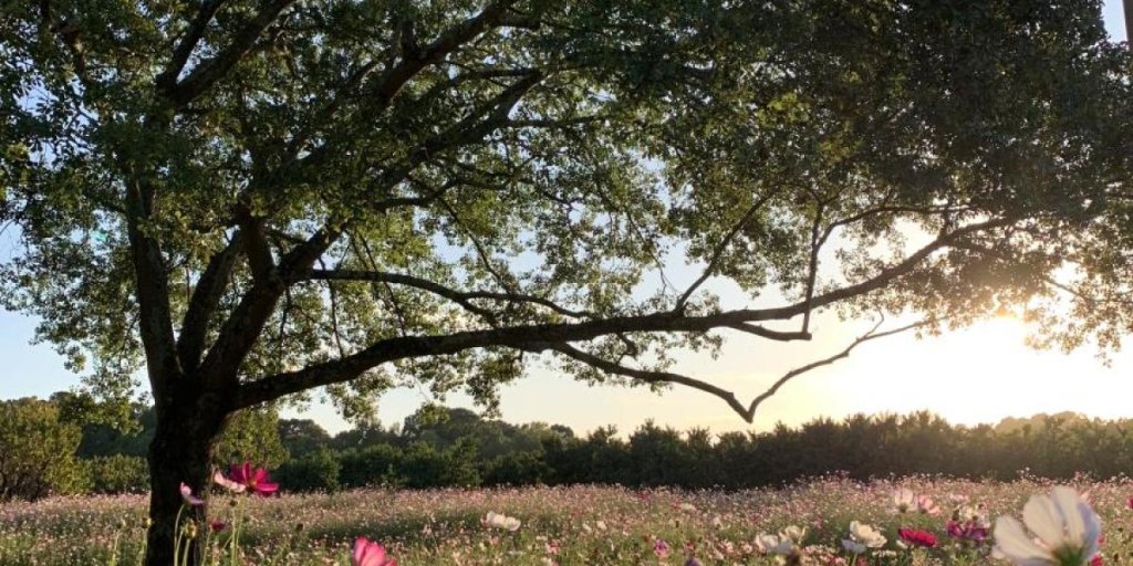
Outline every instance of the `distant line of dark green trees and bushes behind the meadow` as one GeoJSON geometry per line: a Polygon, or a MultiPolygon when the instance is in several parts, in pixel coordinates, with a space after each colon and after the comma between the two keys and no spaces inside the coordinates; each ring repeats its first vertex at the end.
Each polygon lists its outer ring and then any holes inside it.
{"type": "MultiPolygon", "coordinates": [[[[0,403],[0,418],[10,424],[0,430],[0,499],[147,489],[150,410],[135,408],[122,430],[105,419],[84,421],[82,415],[97,413],[75,405],[67,396],[0,403]],[[54,422],[54,429],[41,421],[54,422]],[[48,436],[36,440],[35,435],[48,436]],[[52,478],[29,482],[29,470],[50,470],[52,478]]],[[[399,426],[332,436],[310,420],[281,420],[264,410],[230,422],[218,447],[219,468],[242,460],[267,465],[291,491],[533,483],[743,489],[828,473],[860,480],[908,474],[1007,480],[1022,472],[1108,478],[1133,470],[1133,420],[1060,413],[963,427],[918,412],[723,435],[646,422],[628,437],[613,427],[579,437],[561,424],[510,424],[465,409],[434,409],[399,426]]]]}

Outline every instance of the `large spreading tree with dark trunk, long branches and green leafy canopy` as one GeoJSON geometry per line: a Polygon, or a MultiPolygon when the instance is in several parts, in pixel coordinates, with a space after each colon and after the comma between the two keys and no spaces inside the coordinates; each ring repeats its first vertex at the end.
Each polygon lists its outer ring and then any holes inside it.
{"type": "Polygon", "coordinates": [[[1111,346],[1133,93],[1099,12],[5,2],[0,297],[99,389],[144,365],[154,566],[225,420],[318,388],[355,415],[414,383],[493,406],[542,360],[750,420],[766,394],[673,352],[808,340],[821,309],[931,331],[1012,308],[1111,346]]]}

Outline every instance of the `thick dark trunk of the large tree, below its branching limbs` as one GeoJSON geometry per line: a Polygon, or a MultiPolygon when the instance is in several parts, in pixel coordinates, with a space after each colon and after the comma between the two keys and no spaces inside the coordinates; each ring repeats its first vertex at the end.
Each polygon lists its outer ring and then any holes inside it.
{"type": "Polygon", "coordinates": [[[184,482],[194,495],[204,499],[211,483],[213,446],[224,413],[219,406],[202,405],[204,403],[185,403],[156,411],[156,430],[150,443],[151,524],[146,537],[146,566],[197,565],[204,558],[202,541],[208,529],[205,506],[185,504],[180,492],[184,482]],[[180,557],[173,556],[173,546],[177,529],[189,522],[196,524],[197,537],[195,540],[181,538],[182,548],[189,544],[189,559],[182,563],[180,557]]]}

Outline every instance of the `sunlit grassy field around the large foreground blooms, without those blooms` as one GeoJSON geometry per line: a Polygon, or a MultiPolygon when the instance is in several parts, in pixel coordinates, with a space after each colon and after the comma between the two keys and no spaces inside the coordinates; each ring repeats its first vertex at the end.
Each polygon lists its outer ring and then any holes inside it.
{"type": "MultiPolygon", "coordinates": [[[[216,534],[202,529],[215,564],[231,564],[231,523],[240,515],[238,550],[248,565],[349,565],[358,535],[383,543],[402,566],[414,565],[704,565],[842,564],[854,561],[842,540],[851,521],[875,525],[884,547],[861,557],[869,564],[996,564],[990,542],[951,538],[945,522],[959,501],[994,522],[1019,516],[1028,498],[1050,483],[909,479],[868,484],[820,479],[785,490],[740,492],[632,490],[616,487],[502,490],[385,491],[229,496],[213,499],[213,514],[229,523],[216,534]],[[893,508],[900,488],[932,498],[932,515],[893,508]],[[514,531],[483,523],[488,512],[520,521],[514,531]],[[787,559],[761,552],[760,533],[806,528],[803,552],[787,559]],[[901,548],[898,528],[935,533],[936,548],[901,548]],[[695,561],[692,564],[696,564],[695,561]]],[[[1128,535],[1133,481],[1081,479],[1100,515],[1108,564],[1133,560],[1128,535]]],[[[5,566],[133,565],[144,532],[142,496],[51,498],[0,506],[0,564],[5,566]]],[[[765,539],[766,541],[766,539],[765,539]]],[[[860,558],[859,557],[859,561],[860,558]]],[[[999,563],[1006,564],[1006,563],[999,563]]]]}

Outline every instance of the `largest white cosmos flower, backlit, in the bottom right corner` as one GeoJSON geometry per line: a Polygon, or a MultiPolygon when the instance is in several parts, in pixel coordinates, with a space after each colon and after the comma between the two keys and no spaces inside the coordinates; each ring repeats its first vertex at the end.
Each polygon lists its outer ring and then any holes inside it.
{"type": "Polygon", "coordinates": [[[1023,506],[1023,523],[1033,539],[1015,518],[996,520],[996,556],[1017,566],[1082,566],[1098,554],[1101,520],[1071,488],[1031,496],[1023,506]]]}

